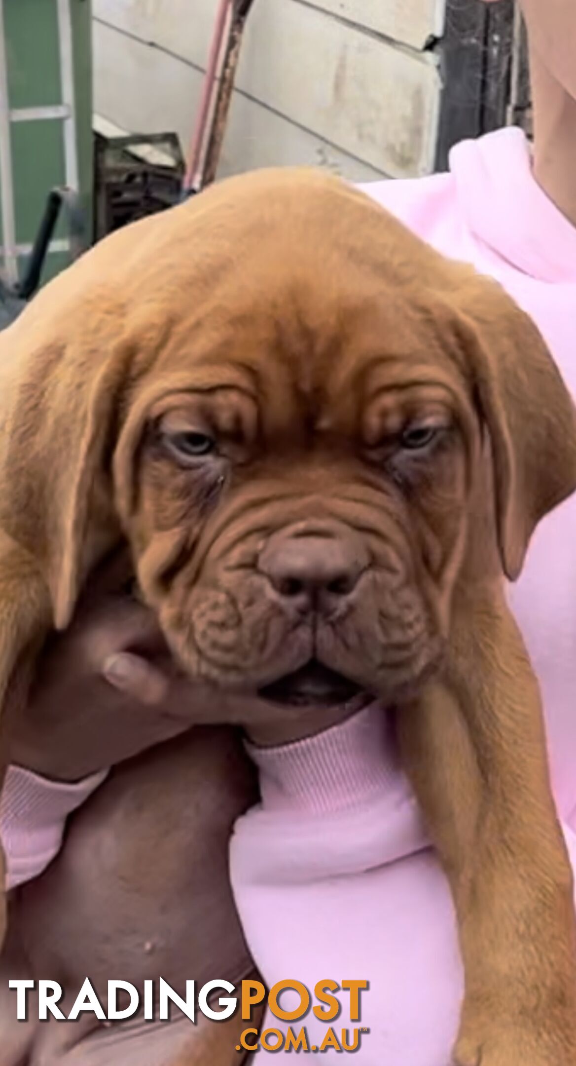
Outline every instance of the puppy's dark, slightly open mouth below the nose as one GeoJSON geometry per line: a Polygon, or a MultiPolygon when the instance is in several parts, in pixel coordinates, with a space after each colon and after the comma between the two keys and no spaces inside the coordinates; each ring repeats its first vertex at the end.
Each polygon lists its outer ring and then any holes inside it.
{"type": "Polygon", "coordinates": [[[289,707],[338,707],[362,695],[356,681],[336,674],[316,659],[259,692],[262,699],[289,707]]]}

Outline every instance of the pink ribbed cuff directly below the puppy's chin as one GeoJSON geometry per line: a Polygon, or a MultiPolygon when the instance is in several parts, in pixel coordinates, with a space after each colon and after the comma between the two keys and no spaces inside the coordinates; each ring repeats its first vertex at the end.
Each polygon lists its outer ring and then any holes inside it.
{"type": "Polygon", "coordinates": [[[265,811],[331,813],[380,795],[393,801],[408,789],[392,720],[379,704],[316,737],[281,747],[246,747],[260,771],[265,811]]]}

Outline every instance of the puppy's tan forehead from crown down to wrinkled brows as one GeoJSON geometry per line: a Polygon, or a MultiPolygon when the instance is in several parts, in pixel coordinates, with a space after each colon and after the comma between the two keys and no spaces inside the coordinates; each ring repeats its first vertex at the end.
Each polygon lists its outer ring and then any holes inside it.
{"type": "Polygon", "coordinates": [[[320,417],[431,368],[449,372],[449,316],[439,313],[449,268],[367,197],[280,174],[201,201],[174,212],[153,263],[141,248],[138,313],[150,293],[157,371],[191,389],[240,385],[275,417],[279,402],[291,417],[291,404],[320,417]]]}

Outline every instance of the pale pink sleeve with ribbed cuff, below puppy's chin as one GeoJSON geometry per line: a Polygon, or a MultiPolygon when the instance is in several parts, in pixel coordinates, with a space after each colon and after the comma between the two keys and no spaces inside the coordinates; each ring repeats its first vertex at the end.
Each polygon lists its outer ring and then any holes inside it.
{"type": "MultiPolygon", "coordinates": [[[[314,1003],[327,979],[368,983],[361,1029],[349,997],[339,997],[334,1031],[359,1034],[355,1066],[446,1066],[463,991],[456,918],[393,726],[374,705],[318,737],[249,748],[261,802],[235,823],[231,882],[268,988],[297,978],[314,1003]]],[[[565,836],[576,866],[576,836],[565,836]]],[[[282,994],[284,1010],[299,1002],[299,992],[282,994]]],[[[285,1035],[289,1024],[303,1025],[320,1050],[332,1022],[314,1011],[284,1022],[268,1010],[263,1029],[285,1035]]],[[[336,1055],[342,1062],[340,1047],[327,1046],[323,1061],[336,1055]]]]}

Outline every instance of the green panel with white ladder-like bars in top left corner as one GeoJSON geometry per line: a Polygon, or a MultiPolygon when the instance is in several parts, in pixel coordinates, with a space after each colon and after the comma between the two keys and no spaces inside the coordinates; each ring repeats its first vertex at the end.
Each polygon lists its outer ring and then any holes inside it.
{"type": "MultiPolygon", "coordinates": [[[[14,287],[46,198],[80,193],[92,215],[92,18],[89,0],[0,0],[0,269],[14,287]]],[[[59,223],[43,280],[69,261],[59,223]]]]}

